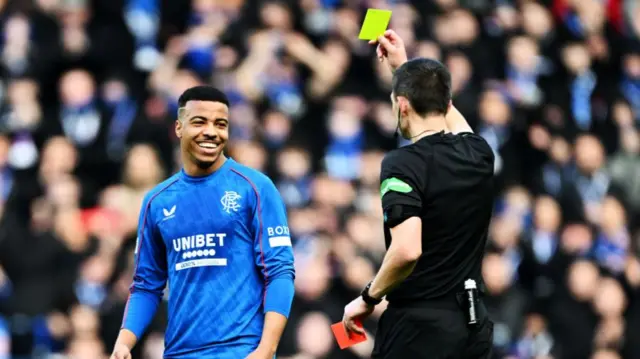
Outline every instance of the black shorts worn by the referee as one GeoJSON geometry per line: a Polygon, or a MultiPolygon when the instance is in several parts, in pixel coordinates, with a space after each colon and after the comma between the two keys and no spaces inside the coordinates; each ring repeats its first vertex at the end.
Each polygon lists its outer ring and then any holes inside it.
{"type": "Polygon", "coordinates": [[[488,359],[493,322],[482,301],[478,314],[479,324],[469,328],[455,300],[389,306],[378,322],[372,358],[488,359]]]}

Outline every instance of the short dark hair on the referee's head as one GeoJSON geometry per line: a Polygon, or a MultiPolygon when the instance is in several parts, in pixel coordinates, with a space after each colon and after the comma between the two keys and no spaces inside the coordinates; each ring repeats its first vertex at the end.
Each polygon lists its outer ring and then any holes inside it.
{"type": "Polygon", "coordinates": [[[441,62],[416,58],[393,74],[394,96],[403,96],[420,116],[446,114],[451,101],[451,73],[441,62]]]}

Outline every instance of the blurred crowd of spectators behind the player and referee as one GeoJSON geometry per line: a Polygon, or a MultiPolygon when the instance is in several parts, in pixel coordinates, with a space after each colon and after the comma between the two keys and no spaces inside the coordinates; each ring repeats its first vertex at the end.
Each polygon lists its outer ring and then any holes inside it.
{"type": "MultiPolygon", "coordinates": [[[[640,358],[640,2],[0,0],[0,359],[106,358],[142,197],[179,169],[177,98],[203,83],[232,102],[229,155],[288,206],[279,357],[368,358],[329,327],[381,263],[380,163],[407,144],[358,40],[369,7],[449,66],[495,152],[495,358],[640,358]]],[[[134,358],[162,358],[166,319],[134,358]]]]}

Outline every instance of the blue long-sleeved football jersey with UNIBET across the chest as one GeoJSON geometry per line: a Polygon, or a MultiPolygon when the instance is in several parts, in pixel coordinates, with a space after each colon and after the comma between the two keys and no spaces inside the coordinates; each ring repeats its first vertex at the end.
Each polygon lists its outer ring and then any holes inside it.
{"type": "Polygon", "coordinates": [[[284,203],[267,176],[233,159],[150,191],[135,252],[123,327],[140,337],[152,319],[143,312],[155,312],[166,288],[165,358],[242,358],[257,347],[267,311],[288,316],[268,299],[278,296],[272,283],[295,275],[284,203]]]}

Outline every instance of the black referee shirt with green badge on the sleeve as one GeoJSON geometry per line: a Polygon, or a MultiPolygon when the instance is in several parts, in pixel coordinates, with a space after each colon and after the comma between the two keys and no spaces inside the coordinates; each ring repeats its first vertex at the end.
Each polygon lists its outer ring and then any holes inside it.
{"type": "MultiPolygon", "coordinates": [[[[418,207],[422,218],[422,256],[413,273],[387,295],[390,304],[453,295],[467,278],[483,287],[493,162],[487,142],[473,133],[436,133],[385,156],[380,174],[385,222],[393,205],[418,207]]],[[[388,249],[386,223],[384,232],[388,249]]]]}

